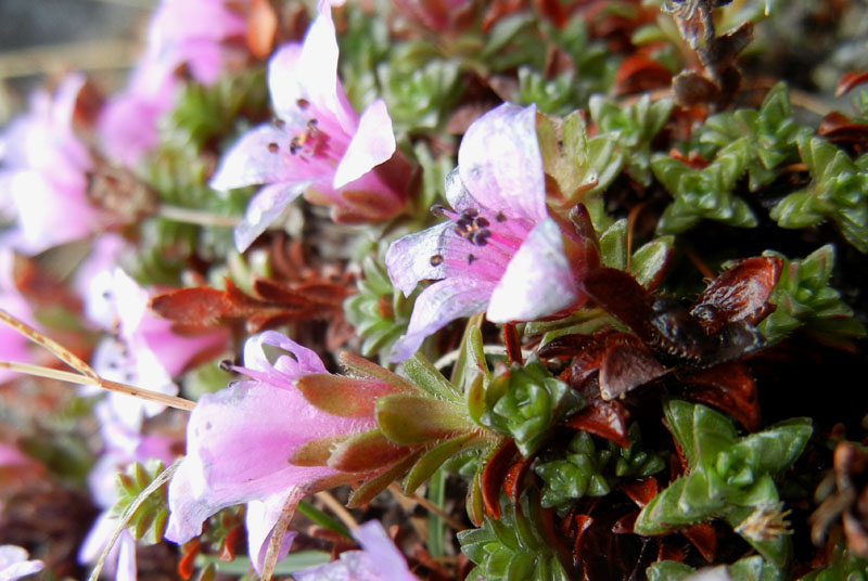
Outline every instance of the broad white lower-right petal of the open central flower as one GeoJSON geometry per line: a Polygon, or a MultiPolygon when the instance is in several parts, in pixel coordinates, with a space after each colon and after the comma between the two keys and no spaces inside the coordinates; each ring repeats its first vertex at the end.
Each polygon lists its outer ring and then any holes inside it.
{"type": "Polygon", "coordinates": [[[578,287],[561,236],[551,218],[531,231],[492,293],[486,315],[489,321],[533,321],[577,300],[578,287]]]}

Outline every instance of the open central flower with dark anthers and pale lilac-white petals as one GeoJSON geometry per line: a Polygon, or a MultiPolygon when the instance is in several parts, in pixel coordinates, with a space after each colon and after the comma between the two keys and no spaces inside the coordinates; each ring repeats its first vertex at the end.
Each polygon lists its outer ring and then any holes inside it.
{"type": "Polygon", "coordinates": [[[583,245],[549,217],[535,106],[505,103],[468,129],[446,197],[452,210],[434,211],[448,221],[396,241],[386,254],[388,275],[405,295],[419,281],[442,279],[416,299],[396,362],[455,319],[487,310],[496,323],[533,321],[580,298],[583,245]]]}

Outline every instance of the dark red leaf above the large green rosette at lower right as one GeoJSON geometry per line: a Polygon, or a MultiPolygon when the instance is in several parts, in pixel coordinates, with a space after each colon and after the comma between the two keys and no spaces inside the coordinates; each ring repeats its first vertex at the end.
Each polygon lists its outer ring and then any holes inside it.
{"type": "Polygon", "coordinates": [[[750,431],[760,427],[756,383],[742,363],[720,363],[692,372],[681,380],[693,386],[685,390],[690,399],[723,410],[750,431]]]}

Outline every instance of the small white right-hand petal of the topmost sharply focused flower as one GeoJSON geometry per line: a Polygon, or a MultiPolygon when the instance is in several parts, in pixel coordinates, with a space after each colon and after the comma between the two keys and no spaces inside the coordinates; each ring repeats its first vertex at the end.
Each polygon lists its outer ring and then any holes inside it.
{"type": "Polygon", "coordinates": [[[359,127],[334,172],[336,190],[361,178],[395,153],[395,133],[385,101],[378,99],[361,113],[359,127]]]}

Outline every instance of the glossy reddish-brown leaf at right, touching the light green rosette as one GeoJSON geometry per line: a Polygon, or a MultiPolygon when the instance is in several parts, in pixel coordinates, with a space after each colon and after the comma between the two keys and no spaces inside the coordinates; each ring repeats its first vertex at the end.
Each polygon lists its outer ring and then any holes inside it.
{"type": "Polygon", "coordinates": [[[766,304],[780,277],[783,262],[775,257],[742,260],[722,272],[699,296],[690,314],[709,334],[725,323],[746,321],[756,324],[769,314],[766,304]]]}

